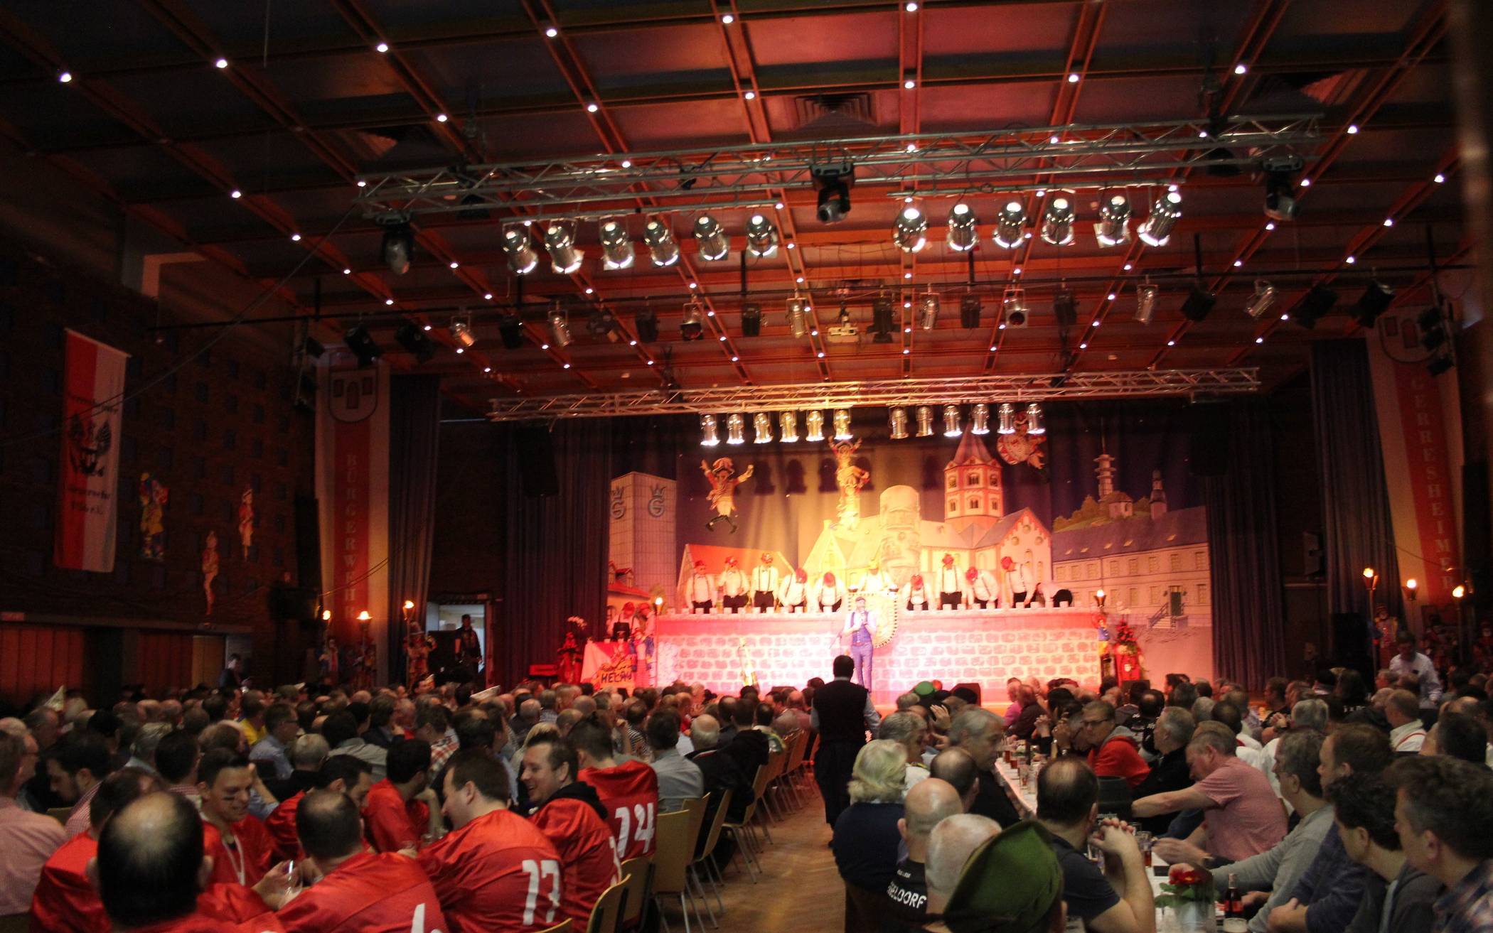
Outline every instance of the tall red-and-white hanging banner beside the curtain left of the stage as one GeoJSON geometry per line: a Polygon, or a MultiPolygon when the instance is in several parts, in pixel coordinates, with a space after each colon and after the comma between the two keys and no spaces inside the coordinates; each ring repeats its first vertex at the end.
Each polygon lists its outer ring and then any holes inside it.
{"type": "MultiPolygon", "coordinates": [[[[318,360],[317,505],[321,518],[321,587],[330,634],[343,645],[369,636],[387,643],[388,606],[388,369],[360,367],[346,351],[318,360]]],[[[379,658],[379,684],[388,661],[379,658]]]]}

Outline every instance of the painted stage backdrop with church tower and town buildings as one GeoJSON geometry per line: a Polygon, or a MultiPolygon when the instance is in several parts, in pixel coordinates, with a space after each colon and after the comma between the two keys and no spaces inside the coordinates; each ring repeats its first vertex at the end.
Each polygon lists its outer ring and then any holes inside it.
{"type": "MultiPolygon", "coordinates": [[[[933,436],[903,440],[890,439],[885,409],[855,412],[851,443],[860,445],[839,454],[826,440],[752,443],[749,418],[742,445],[724,443],[724,416],[714,448],[699,446],[693,422],[681,428],[672,470],[632,461],[678,478],[670,606],[685,605],[682,584],[696,560],[718,578],[736,557],[749,575],[763,552],[779,573],[805,569],[811,584],[833,573],[855,585],[873,561],[897,582],[920,573],[936,605],[935,569],[950,554],[960,575],[987,570],[1006,591],[1030,581],[1048,602],[1066,591],[1075,606],[1091,608],[1105,590],[1111,615],[1135,628],[1153,678],[1211,675],[1208,519],[1202,482],[1188,469],[1193,414],[1171,402],[1050,405],[1044,436],[1027,433],[1024,416],[1015,434],[1002,436],[991,409],[988,434],[947,437],[939,416],[933,436]],[[735,490],[735,531],[729,521],[706,528],[717,515],[706,472],[726,467],[723,458],[735,479],[751,470],[735,490]],[[842,493],[842,482],[863,485],[842,493]]],[[[967,406],[961,414],[967,428],[967,406]]],[[[829,436],[829,411],[824,419],[829,436]]],[[[803,424],[800,414],[800,433],[803,424]]],[[[1093,670],[1075,673],[1097,673],[1097,646],[1093,670]]],[[[770,681],[770,664],[758,667],[770,681]]]]}

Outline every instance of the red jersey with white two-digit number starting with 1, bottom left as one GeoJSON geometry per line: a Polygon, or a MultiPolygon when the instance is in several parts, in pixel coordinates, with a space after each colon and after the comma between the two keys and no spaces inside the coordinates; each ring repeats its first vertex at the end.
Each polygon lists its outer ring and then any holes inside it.
{"type": "Polygon", "coordinates": [[[449,933],[532,933],[557,923],[560,855],[509,811],[493,811],[420,852],[449,933]]]}

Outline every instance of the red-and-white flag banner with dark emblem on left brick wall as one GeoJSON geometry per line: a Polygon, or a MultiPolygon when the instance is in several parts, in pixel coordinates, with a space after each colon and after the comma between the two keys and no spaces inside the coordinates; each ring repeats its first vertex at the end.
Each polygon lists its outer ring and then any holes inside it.
{"type": "Polygon", "coordinates": [[[119,416],[130,354],[67,331],[63,457],[52,561],[113,572],[119,494],[119,416]]]}

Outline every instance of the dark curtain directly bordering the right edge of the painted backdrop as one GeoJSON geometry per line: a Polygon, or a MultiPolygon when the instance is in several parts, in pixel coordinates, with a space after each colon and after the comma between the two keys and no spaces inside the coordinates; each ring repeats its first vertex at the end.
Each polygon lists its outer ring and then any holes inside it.
{"type": "Polygon", "coordinates": [[[1285,670],[1275,442],[1269,402],[1235,402],[1227,418],[1229,469],[1203,479],[1214,602],[1214,670],[1262,685],[1285,670]]]}

